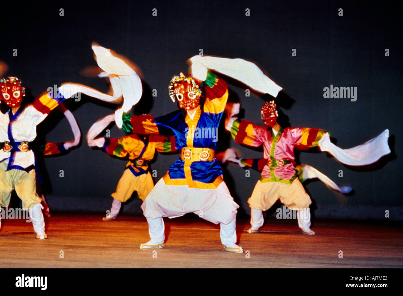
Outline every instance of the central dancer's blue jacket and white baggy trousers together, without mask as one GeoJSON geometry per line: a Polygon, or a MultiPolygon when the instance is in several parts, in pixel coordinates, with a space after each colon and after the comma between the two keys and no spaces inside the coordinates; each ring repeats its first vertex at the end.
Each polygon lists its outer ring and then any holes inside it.
{"type": "MultiPolygon", "coordinates": [[[[123,129],[133,133],[174,135],[181,157],[154,187],[141,205],[150,226],[150,238],[164,243],[162,217],[180,217],[195,213],[212,223],[221,223],[221,242],[235,245],[235,218],[239,207],[222,179],[222,169],[215,159],[217,130],[228,98],[224,80],[212,73],[204,81],[206,100],[197,107],[193,118],[180,110],[152,119],[123,115],[123,129]],[[156,227],[155,227],[156,225],[156,227]]],[[[235,246],[234,246],[235,245],[235,246]]]]}

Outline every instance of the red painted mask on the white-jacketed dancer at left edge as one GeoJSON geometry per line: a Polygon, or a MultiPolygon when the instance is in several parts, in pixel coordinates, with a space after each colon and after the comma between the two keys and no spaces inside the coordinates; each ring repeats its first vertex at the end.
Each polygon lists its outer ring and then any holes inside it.
{"type": "Polygon", "coordinates": [[[23,96],[25,96],[25,88],[21,86],[21,81],[17,77],[0,79],[0,88],[0,100],[4,101],[11,108],[21,105],[23,96]]]}

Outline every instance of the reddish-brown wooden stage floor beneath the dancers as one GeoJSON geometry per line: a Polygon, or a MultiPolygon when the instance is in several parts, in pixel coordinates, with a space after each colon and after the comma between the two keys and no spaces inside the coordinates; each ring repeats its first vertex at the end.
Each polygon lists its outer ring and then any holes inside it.
{"type": "Polygon", "coordinates": [[[2,220],[2,268],[403,267],[401,222],[318,219],[316,236],[307,236],[295,220],[267,219],[262,233],[249,234],[249,221],[238,219],[239,244],[248,252],[235,254],[223,250],[219,226],[197,216],[164,219],[166,246],[156,252],[139,249],[149,240],[144,217],[101,218],[54,213],[45,218],[47,240],[35,238],[31,223],[2,220]]]}

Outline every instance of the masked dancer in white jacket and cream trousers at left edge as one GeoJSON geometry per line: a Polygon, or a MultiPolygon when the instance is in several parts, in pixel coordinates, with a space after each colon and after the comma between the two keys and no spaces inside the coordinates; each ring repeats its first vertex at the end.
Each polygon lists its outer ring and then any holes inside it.
{"type": "Polygon", "coordinates": [[[17,77],[0,79],[1,100],[10,108],[0,113],[0,204],[8,206],[13,189],[22,200],[25,210],[29,209],[37,238],[46,238],[41,199],[36,194],[35,156],[30,143],[36,138],[36,126],[41,123],[51,110],[56,108],[64,97],[45,93],[33,104],[21,108],[25,88],[17,77]]]}

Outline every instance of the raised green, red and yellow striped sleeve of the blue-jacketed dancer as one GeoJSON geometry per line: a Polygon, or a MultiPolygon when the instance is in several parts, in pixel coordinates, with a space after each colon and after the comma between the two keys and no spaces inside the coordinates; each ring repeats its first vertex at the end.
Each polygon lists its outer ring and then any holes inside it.
{"type": "Polygon", "coordinates": [[[206,97],[204,112],[216,114],[223,112],[228,99],[228,87],[224,79],[218,78],[208,71],[207,78],[203,83],[206,97]]]}

